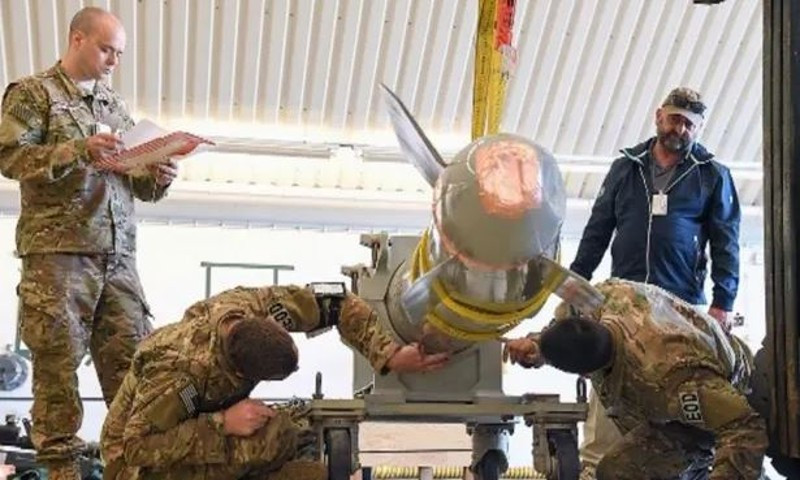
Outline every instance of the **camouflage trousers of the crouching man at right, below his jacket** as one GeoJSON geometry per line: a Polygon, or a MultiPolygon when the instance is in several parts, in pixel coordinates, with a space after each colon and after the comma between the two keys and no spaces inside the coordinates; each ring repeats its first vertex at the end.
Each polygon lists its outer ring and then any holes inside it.
{"type": "Polygon", "coordinates": [[[714,456],[708,432],[642,423],[622,436],[597,465],[597,480],[708,478],[714,456]]]}

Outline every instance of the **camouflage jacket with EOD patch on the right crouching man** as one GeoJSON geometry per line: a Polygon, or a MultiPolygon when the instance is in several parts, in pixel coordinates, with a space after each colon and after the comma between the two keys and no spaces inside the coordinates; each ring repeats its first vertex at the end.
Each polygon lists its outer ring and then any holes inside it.
{"type": "Polygon", "coordinates": [[[744,396],[752,370],[747,346],[659,287],[609,280],[597,288],[605,302],[595,315],[611,330],[615,352],[591,379],[620,430],[644,421],[684,424],[713,434],[712,479],[759,472],[766,436],[744,396]]]}

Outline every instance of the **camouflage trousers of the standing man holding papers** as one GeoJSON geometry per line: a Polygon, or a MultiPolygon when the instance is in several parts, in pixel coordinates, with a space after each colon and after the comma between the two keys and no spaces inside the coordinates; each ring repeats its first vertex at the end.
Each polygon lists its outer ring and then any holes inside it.
{"type": "Polygon", "coordinates": [[[152,331],[136,260],[27,255],[17,294],[20,336],[33,362],[32,441],[40,462],[69,471],[84,448],[76,435],[83,420],[81,360],[88,351],[108,405],[136,345],[152,331]]]}

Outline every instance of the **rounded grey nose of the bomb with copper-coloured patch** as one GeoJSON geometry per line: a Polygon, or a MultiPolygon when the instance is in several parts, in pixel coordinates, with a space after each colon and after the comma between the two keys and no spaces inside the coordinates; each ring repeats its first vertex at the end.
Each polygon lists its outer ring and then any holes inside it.
{"type": "Polygon", "coordinates": [[[436,237],[465,265],[517,268],[552,258],[566,212],[553,156],[530,140],[500,134],[459,152],[434,189],[436,237]]]}

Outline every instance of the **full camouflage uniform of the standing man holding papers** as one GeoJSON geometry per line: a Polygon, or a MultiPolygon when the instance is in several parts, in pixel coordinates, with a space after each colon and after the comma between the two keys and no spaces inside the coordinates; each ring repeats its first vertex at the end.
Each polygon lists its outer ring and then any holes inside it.
{"type": "MultiPolygon", "coordinates": [[[[92,166],[86,138],[98,124],[133,122],[108,85],[75,84],[60,64],[8,86],[0,122],[0,173],[19,181],[17,253],[21,337],[33,358],[33,442],[52,470],[70,470],[82,442],[76,370],[88,350],[110,403],[138,341],[150,330],[136,272],[134,197],[165,187],[92,166]]],[[[56,473],[51,478],[57,476],[56,473]]]]}

